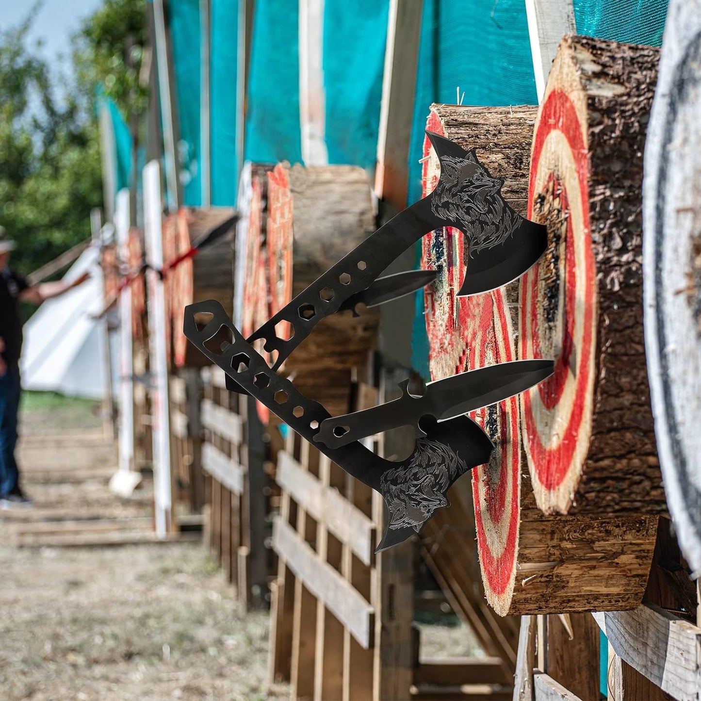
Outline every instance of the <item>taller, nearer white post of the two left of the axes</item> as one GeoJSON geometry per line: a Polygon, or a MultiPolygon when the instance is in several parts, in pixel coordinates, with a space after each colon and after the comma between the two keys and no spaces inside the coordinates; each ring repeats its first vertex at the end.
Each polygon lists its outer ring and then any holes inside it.
{"type": "Polygon", "coordinates": [[[171,530],[170,417],[168,416],[168,356],[165,347],[165,299],[161,228],[161,168],[158,161],[144,168],[144,233],[149,263],[149,358],[154,389],[151,392],[151,428],[154,439],[154,501],[156,533],[165,537],[171,530]]]}

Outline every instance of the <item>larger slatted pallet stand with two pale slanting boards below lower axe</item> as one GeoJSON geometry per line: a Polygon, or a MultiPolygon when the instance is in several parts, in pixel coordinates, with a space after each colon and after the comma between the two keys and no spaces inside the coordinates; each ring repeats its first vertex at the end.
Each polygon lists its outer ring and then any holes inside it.
{"type": "MultiPolygon", "coordinates": [[[[357,394],[358,408],[377,395],[357,394]]],[[[292,431],[275,479],[270,683],[289,682],[293,699],[511,697],[501,658],[419,662],[416,543],[374,552],[384,518],[379,494],[292,431]]]]}

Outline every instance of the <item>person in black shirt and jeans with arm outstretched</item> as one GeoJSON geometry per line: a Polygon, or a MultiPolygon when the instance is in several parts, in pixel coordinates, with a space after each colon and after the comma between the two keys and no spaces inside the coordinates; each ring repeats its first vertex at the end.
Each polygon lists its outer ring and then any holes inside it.
{"type": "Polygon", "coordinates": [[[22,494],[15,461],[17,420],[20,408],[20,353],[22,353],[22,316],[20,301],[41,304],[58,297],[88,279],[88,273],[73,283],[27,285],[25,278],[9,268],[10,252],[15,242],[0,226],[0,508],[27,506],[31,502],[22,494]]]}

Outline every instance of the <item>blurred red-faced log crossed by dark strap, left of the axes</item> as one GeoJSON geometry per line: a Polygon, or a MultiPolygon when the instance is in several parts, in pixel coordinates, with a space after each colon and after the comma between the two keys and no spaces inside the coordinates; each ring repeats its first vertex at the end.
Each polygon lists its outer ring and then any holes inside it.
{"type": "MultiPolygon", "coordinates": [[[[231,207],[182,207],[163,220],[163,260],[170,261],[190,250],[193,243],[233,216],[231,207]]],[[[165,275],[166,299],[172,319],[173,351],[178,367],[203,367],[209,361],[187,342],[182,324],[185,307],[216,299],[224,308],[233,304],[232,234],[204,247],[165,275]]],[[[170,347],[170,346],[168,346],[170,347]]]]}

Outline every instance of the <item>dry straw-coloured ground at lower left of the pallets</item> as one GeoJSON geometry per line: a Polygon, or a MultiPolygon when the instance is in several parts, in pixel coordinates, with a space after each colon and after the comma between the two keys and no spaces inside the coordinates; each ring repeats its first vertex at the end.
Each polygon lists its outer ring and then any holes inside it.
{"type": "MultiPolygon", "coordinates": [[[[92,407],[77,402],[54,406],[50,398],[30,395],[22,419],[25,487],[36,500],[34,514],[27,517],[46,513],[55,518],[51,515],[67,509],[80,517],[96,505],[110,518],[140,515],[132,514],[134,505],[110,505],[110,499],[117,500],[104,482],[47,482],[54,465],[63,473],[74,461],[62,459],[74,456],[64,447],[66,432],[99,428],[92,407]],[[52,454],[55,459],[48,460],[52,454]]],[[[81,455],[82,470],[92,464],[88,453],[81,455]]],[[[144,502],[137,499],[137,505],[144,502]]],[[[202,545],[19,548],[8,542],[13,529],[22,528],[12,519],[24,515],[2,513],[2,699],[249,701],[287,696],[284,687],[268,693],[264,684],[268,615],[239,615],[231,585],[202,545]]]]}

